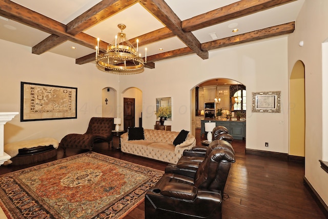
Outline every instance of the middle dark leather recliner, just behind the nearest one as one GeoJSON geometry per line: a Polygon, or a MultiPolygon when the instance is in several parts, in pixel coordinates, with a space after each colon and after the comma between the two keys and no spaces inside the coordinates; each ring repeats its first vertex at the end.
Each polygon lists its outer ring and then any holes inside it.
{"type": "Polygon", "coordinates": [[[203,160],[216,149],[228,150],[232,154],[235,154],[235,151],[230,143],[223,140],[214,140],[208,147],[195,146],[190,150],[183,151],[183,156],[181,156],[178,163],[168,164],[165,168],[165,172],[194,177],[203,160]]]}

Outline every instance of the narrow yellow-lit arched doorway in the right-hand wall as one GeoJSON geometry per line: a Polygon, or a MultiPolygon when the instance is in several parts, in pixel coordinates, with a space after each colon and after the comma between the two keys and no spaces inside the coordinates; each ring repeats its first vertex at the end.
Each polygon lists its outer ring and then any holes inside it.
{"type": "Polygon", "coordinates": [[[297,61],[290,77],[289,155],[305,156],[305,68],[297,61]]]}

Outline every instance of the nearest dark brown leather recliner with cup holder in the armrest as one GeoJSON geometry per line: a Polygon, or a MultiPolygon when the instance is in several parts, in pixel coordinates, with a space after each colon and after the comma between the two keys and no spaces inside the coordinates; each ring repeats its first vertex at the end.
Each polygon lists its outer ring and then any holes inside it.
{"type": "Polygon", "coordinates": [[[145,196],[145,218],[221,218],[223,189],[234,154],[213,150],[194,177],[165,173],[145,196]]]}

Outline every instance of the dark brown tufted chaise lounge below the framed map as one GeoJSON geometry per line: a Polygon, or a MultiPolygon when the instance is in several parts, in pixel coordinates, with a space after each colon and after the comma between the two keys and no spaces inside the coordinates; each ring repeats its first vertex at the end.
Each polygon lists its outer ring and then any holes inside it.
{"type": "Polygon", "coordinates": [[[114,118],[92,117],[89,122],[87,132],[84,134],[68,134],[61,139],[59,146],[66,148],[93,149],[94,143],[110,142],[112,140],[112,130],[114,130],[114,118]]]}

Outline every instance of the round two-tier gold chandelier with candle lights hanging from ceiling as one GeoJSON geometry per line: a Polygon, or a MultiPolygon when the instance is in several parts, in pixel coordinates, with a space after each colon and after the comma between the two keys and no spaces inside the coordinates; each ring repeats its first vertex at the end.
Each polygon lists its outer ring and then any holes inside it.
{"type": "Polygon", "coordinates": [[[115,35],[112,44],[107,46],[107,51],[99,53],[99,38],[97,38],[96,46],[96,64],[101,70],[116,74],[136,74],[142,72],[147,63],[147,48],[145,49],[145,61],[135,48],[127,39],[123,30],[126,25],[119,24],[117,27],[121,32],[115,35]]]}

